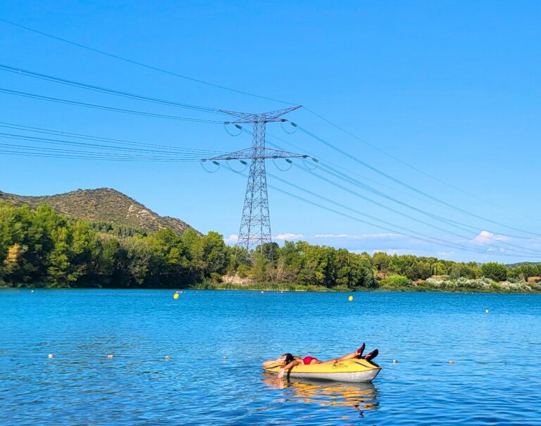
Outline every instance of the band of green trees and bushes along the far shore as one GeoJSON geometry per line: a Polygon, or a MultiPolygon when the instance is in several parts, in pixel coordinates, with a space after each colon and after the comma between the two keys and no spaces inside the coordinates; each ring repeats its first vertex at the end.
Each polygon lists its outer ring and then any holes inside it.
{"type": "Polygon", "coordinates": [[[541,292],[541,263],[479,265],[307,242],[266,244],[246,259],[217,232],[147,232],[0,203],[1,287],[541,292]]]}

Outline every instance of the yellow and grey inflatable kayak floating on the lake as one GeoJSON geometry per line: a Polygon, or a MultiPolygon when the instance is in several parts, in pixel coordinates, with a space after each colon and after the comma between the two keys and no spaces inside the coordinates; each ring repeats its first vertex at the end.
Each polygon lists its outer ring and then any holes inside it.
{"type": "MultiPolygon", "coordinates": [[[[263,370],[278,374],[283,364],[273,363],[263,367],[263,370]]],[[[289,372],[290,377],[301,379],[336,380],[338,382],[371,382],[381,368],[365,359],[350,359],[330,364],[295,365],[289,372]]],[[[286,377],[288,372],[285,372],[286,377]]]]}

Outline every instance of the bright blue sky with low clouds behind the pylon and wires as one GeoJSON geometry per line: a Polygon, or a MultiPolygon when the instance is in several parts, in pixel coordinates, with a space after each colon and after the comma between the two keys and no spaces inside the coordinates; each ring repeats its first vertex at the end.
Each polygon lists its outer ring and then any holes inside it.
{"type": "MultiPolygon", "coordinates": [[[[523,256],[526,252],[518,248],[541,253],[539,1],[6,0],[0,18],[199,80],[302,104],[445,184],[309,111],[291,113],[295,123],[396,180],[478,215],[406,189],[302,132],[290,135],[280,125],[269,124],[270,134],[297,147],[275,139],[269,142],[309,152],[322,162],[347,168],[349,175],[403,203],[468,225],[459,230],[327,175],[399,213],[388,211],[304,170],[282,173],[270,161],[269,173],[394,225],[385,225],[391,232],[269,189],[277,241],[301,238],[354,251],[452,260],[539,260],[523,256]],[[396,227],[475,252],[405,237],[396,227]]],[[[0,51],[0,65],[144,96],[237,111],[287,107],[157,73],[1,22],[0,51]]],[[[1,70],[0,89],[216,118],[1,70]]],[[[249,135],[230,137],[221,125],[97,111],[6,93],[0,93],[0,122],[216,151],[250,144],[249,135]]],[[[1,127],[0,132],[23,133],[1,127]]],[[[4,138],[0,143],[13,141],[4,138]]],[[[283,168],[285,163],[278,165],[283,168]]],[[[316,173],[323,175],[321,170],[316,173]]],[[[206,173],[197,162],[131,163],[1,153],[0,177],[2,191],[24,195],[113,187],[161,215],[181,218],[202,232],[216,230],[230,242],[238,232],[246,184],[244,177],[223,168],[206,173]]],[[[273,177],[268,182],[330,206],[273,177]]]]}

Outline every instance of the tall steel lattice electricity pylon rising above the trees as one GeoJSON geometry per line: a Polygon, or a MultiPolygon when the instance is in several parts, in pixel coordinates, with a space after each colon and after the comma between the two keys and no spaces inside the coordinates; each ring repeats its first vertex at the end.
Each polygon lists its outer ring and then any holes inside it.
{"type": "Polygon", "coordinates": [[[294,106],[269,113],[252,114],[237,113],[235,111],[220,111],[228,113],[237,120],[231,124],[252,125],[251,148],[234,151],[223,156],[209,158],[211,161],[219,160],[250,160],[250,173],[242,207],[242,219],[240,220],[239,239],[237,246],[243,247],[249,253],[257,246],[272,242],[270,236],[270,215],[268,212],[267,175],[265,160],[267,158],[306,158],[306,155],[294,154],[288,151],[278,151],[265,147],[266,124],[271,122],[284,122],[282,115],[300,108],[294,106]]]}

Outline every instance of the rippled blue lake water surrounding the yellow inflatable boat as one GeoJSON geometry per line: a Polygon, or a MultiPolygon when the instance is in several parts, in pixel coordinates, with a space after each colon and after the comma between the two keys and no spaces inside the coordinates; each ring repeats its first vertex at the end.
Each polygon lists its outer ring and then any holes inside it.
{"type": "Polygon", "coordinates": [[[347,296],[0,290],[0,424],[541,425],[541,296],[347,296]],[[373,384],[261,370],[362,342],[373,384]]]}

